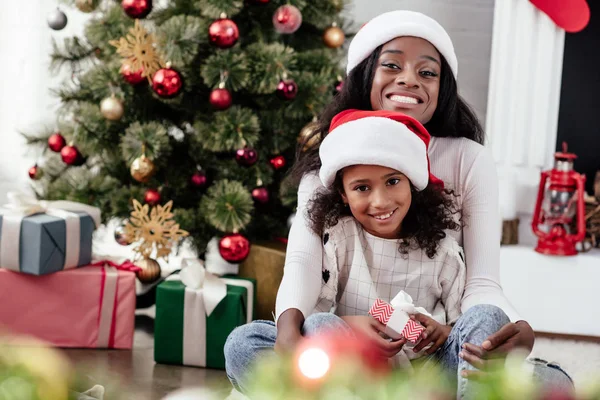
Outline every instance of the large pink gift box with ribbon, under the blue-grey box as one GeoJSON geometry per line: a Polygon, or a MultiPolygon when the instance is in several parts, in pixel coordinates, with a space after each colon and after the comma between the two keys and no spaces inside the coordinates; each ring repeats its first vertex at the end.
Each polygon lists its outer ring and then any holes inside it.
{"type": "Polygon", "coordinates": [[[0,269],[0,326],[58,347],[130,349],[135,273],[86,266],[46,276],[0,269]]]}

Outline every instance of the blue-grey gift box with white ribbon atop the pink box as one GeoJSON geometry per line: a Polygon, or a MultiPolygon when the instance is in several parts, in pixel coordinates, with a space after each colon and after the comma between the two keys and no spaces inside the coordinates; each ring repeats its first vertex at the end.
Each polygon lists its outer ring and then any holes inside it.
{"type": "Polygon", "coordinates": [[[0,268],[45,275],[91,262],[98,208],[19,193],[8,199],[0,208],[0,268]]]}

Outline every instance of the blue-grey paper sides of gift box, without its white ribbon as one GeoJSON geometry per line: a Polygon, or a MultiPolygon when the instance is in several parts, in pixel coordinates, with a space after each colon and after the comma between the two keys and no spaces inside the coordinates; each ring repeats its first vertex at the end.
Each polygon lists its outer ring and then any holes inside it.
{"type": "MultiPolygon", "coordinates": [[[[81,235],[79,239],[79,261],[77,267],[87,265],[92,260],[92,234],[94,220],[85,212],[74,212],[79,215],[81,235]]],[[[66,248],[65,220],[47,214],[35,214],[23,218],[21,222],[19,252],[20,272],[33,275],[46,275],[61,271],[64,267],[66,248]]],[[[2,215],[0,215],[0,241],[13,240],[2,237],[2,215]]],[[[15,240],[16,244],[16,240],[15,240]]],[[[0,265],[2,267],[2,265],[0,265]]],[[[72,266],[69,266],[72,267],[72,266]]]]}

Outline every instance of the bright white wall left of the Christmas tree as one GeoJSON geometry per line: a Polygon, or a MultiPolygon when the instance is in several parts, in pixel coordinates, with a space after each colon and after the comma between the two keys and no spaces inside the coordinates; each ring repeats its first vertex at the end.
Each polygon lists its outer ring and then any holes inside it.
{"type": "Polygon", "coordinates": [[[47,14],[57,1],[13,1],[0,12],[0,204],[10,190],[27,190],[29,168],[40,156],[24,144],[19,132],[54,127],[58,101],[50,95],[64,79],[48,71],[51,38],[82,31],[85,14],[64,9],[69,22],[62,31],[51,30],[47,14]]]}

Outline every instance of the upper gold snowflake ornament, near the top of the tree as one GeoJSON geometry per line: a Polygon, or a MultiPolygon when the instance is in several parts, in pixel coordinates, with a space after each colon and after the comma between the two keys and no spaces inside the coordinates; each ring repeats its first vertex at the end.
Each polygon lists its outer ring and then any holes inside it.
{"type": "Polygon", "coordinates": [[[123,57],[123,63],[128,63],[132,71],[143,68],[142,75],[149,81],[156,71],[165,66],[154,47],[154,35],[144,29],[138,19],[135,20],[135,25],[129,30],[127,36],[108,43],[117,48],[117,53],[123,57]]]}

